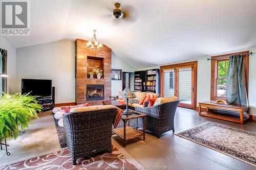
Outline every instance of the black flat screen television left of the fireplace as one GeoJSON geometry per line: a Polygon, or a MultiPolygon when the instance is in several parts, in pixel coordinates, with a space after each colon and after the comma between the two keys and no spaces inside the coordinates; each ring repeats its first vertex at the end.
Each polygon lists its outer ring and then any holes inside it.
{"type": "Polygon", "coordinates": [[[22,94],[29,93],[42,97],[52,95],[52,80],[22,79],[22,94]]]}

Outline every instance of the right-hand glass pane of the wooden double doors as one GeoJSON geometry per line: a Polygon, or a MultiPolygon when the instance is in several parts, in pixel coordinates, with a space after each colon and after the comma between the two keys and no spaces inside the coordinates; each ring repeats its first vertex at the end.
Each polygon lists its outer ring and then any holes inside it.
{"type": "Polygon", "coordinates": [[[179,99],[180,103],[191,103],[192,69],[180,68],[179,74],[179,99]]]}

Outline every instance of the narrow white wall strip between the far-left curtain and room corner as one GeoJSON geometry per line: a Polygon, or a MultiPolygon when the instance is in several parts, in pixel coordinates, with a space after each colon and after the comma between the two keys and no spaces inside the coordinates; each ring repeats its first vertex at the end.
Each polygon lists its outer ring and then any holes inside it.
{"type": "Polygon", "coordinates": [[[0,48],[7,50],[7,92],[14,94],[16,89],[16,48],[3,36],[0,36],[0,48]]]}

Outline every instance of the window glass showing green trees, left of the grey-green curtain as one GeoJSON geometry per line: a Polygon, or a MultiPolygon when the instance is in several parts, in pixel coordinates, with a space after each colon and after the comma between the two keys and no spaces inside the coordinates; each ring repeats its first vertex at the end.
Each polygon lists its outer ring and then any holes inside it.
{"type": "Polygon", "coordinates": [[[216,95],[219,98],[226,98],[226,83],[229,59],[217,61],[216,95]]]}

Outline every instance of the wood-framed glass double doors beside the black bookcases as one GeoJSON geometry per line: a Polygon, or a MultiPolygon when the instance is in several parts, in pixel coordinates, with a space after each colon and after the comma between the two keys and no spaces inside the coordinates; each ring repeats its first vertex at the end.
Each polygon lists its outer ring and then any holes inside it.
{"type": "Polygon", "coordinates": [[[163,96],[167,98],[176,95],[180,107],[196,109],[197,63],[163,66],[160,71],[163,96]]]}

